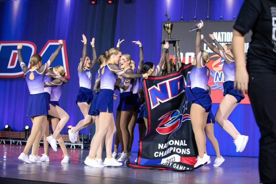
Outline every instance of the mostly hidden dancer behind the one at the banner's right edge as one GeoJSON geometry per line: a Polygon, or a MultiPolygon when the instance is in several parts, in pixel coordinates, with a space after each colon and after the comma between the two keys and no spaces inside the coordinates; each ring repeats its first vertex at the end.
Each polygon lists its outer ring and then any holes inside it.
{"type": "MultiPolygon", "coordinates": [[[[208,85],[207,85],[207,90],[209,90],[209,95],[211,95],[211,88],[208,85]]],[[[219,148],[217,139],[214,135],[214,123],[215,123],[215,118],[214,118],[214,115],[211,110],[208,114],[204,131],[216,152],[216,159],[215,159],[215,163],[213,164],[213,166],[218,167],[224,162],[224,158],[220,155],[220,148],[219,148]]],[[[206,140],[206,138],[205,138],[205,140],[206,140]]],[[[205,144],[206,144],[206,142],[205,142],[205,144]]],[[[205,146],[204,152],[207,154],[206,146],[205,146]]],[[[207,164],[209,164],[210,162],[211,162],[211,159],[209,159],[207,161],[207,164]]]]}

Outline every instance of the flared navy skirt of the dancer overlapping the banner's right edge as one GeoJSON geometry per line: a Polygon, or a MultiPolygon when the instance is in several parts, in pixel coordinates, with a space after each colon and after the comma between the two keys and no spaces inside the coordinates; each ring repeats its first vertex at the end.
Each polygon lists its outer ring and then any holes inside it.
{"type": "Polygon", "coordinates": [[[205,109],[206,113],[210,112],[212,107],[212,99],[209,95],[209,90],[204,90],[199,87],[194,87],[191,90],[190,87],[186,87],[185,91],[188,102],[201,105],[201,107],[205,109]]]}

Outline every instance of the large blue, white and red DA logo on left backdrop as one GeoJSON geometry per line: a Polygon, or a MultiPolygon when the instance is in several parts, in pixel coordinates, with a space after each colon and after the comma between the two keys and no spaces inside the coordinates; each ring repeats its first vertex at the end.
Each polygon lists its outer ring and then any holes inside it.
{"type": "MultiPolygon", "coordinates": [[[[0,41],[0,78],[15,78],[23,76],[23,71],[20,67],[17,56],[17,45],[22,43],[22,57],[26,66],[30,67],[30,58],[36,54],[36,45],[29,41],[0,41]]],[[[42,57],[42,64],[50,59],[51,55],[58,48],[58,40],[48,40],[44,45],[39,55],[42,57]]],[[[51,67],[62,65],[65,69],[66,75],[64,78],[69,79],[69,68],[66,52],[65,40],[63,40],[63,47],[59,55],[52,63],[51,67]]]]}

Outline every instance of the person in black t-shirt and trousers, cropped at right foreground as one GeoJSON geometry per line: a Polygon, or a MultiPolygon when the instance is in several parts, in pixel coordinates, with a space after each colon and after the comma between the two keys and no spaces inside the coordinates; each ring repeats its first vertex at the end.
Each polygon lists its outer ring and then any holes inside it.
{"type": "Polygon", "coordinates": [[[276,183],[276,1],[245,0],[234,25],[234,86],[248,92],[260,128],[260,182],[276,183]],[[244,36],[252,30],[245,68],[244,36]],[[247,73],[248,72],[248,73],[247,73]]]}

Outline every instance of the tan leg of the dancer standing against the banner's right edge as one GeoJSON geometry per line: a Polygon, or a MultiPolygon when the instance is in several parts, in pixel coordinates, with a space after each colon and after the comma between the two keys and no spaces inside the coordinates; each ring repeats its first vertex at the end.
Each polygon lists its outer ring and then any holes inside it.
{"type": "MultiPolygon", "coordinates": [[[[201,107],[198,104],[193,103],[191,107],[191,121],[193,125],[193,131],[194,131],[194,136],[195,140],[197,143],[197,150],[198,150],[198,156],[200,158],[203,158],[204,156],[204,149],[205,149],[205,140],[202,132],[202,125],[205,117],[205,109],[201,107]]],[[[208,115],[208,114],[207,114],[208,115]]],[[[207,117],[206,117],[207,119],[207,117]]],[[[205,121],[206,123],[206,121],[205,121]]]]}

